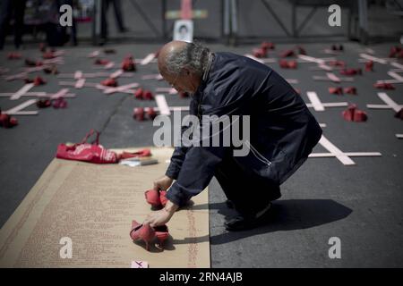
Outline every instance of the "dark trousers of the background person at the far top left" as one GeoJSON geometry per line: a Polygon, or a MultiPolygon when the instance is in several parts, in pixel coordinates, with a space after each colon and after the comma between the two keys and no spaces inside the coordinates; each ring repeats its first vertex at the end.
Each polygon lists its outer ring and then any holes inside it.
{"type": "Polygon", "coordinates": [[[22,43],[24,28],[24,12],[26,0],[1,0],[0,1],[0,49],[3,49],[7,36],[9,23],[14,18],[14,46],[19,48],[22,43]]]}

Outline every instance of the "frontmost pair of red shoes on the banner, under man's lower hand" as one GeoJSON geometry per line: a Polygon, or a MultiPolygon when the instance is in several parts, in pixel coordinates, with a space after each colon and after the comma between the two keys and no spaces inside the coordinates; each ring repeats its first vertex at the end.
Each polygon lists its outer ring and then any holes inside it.
{"type": "Polygon", "coordinates": [[[160,225],[156,227],[150,227],[150,224],[141,224],[136,221],[132,221],[132,231],[130,231],[130,237],[133,241],[144,240],[146,249],[150,250],[150,241],[154,238],[159,240],[159,246],[161,246],[169,236],[167,225],[160,225]]]}

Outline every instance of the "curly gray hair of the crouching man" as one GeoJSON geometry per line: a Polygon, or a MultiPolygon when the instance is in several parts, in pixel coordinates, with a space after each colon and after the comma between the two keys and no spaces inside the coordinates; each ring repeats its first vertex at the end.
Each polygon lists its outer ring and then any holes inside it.
{"type": "Polygon", "coordinates": [[[178,74],[184,67],[188,67],[202,76],[209,62],[209,54],[209,48],[201,46],[199,43],[189,43],[178,52],[167,55],[167,71],[171,74],[178,74]]]}

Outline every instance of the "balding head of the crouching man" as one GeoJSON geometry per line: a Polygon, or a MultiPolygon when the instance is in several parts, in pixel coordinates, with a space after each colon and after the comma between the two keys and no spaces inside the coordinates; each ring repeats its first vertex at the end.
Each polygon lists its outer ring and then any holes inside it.
{"type": "Polygon", "coordinates": [[[201,82],[209,62],[207,47],[172,41],[159,50],[159,73],[178,91],[193,93],[201,82]]]}

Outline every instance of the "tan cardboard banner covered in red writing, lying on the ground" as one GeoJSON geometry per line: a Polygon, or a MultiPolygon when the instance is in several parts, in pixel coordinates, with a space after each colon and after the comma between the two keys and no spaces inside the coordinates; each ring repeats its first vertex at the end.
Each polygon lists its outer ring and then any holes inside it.
{"type": "Polygon", "coordinates": [[[132,220],[151,213],[144,191],[166,172],[172,151],[151,148],[159,164],[139,167],[54,159],[1,229],[0,266],[210,267],[207,189],[167,223],[163,250],[129,236],[132,220]]]}

